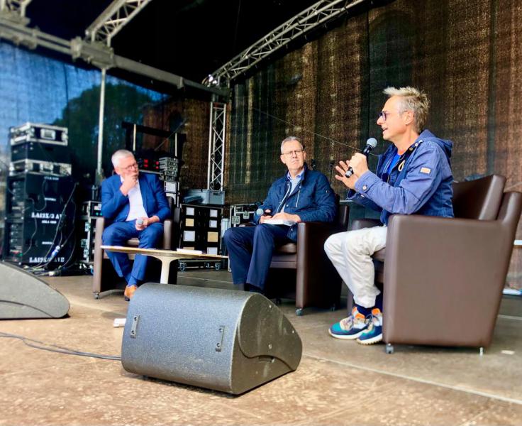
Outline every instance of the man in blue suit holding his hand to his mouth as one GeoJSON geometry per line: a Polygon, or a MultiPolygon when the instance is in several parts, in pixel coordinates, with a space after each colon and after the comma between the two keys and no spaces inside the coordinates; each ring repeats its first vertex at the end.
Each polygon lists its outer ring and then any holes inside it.
{"type": "MultiPolygon", "coordinates": [[[[116,175],[101,183],[101,214],[111,221],[101,239],[107,246],[122,246],[138,237],[141,249],[153,249],[163,234],[163,221],[170,207],[157,175],[139,174],[133,153],[121,149],[113,153],[116,175]]],[[[134,265],[126,253],[107,251],[119,276],[125,278],[125,299],[130,300],[145,279],[148,256],[136,255],[134,265]]]]}

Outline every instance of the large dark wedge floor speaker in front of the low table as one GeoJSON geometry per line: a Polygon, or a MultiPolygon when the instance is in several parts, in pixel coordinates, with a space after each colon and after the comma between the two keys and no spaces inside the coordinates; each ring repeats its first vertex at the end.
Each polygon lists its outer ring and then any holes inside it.
{"type": "Polygon", "coordinates": [[[147,283],[128,307],[121,363],[130,373],[227,393],[294,371],[302,344],[258,293],[147,283]]]}

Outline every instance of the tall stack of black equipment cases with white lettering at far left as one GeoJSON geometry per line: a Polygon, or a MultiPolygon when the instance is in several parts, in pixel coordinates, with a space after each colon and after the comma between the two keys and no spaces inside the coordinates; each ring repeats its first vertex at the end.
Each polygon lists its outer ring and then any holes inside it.
{"type": "Polygon", "coordinates": [[[74,182],[67,129],[26,123],[9,131],[2,257],[30,266],[65,266],[72,260],[74,182]]]}

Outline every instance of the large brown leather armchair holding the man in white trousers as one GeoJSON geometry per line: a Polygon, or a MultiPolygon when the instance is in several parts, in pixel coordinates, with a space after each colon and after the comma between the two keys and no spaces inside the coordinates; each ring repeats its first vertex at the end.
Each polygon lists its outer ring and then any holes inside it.
{"type": "Polygon", "coordinates": [[[522,193],[504,193],[505,182],[455,183],[455,218],[390,218],[387,246],[373,256],[387,352],[393,344],[489,346],[522,210],[522,193]]]}

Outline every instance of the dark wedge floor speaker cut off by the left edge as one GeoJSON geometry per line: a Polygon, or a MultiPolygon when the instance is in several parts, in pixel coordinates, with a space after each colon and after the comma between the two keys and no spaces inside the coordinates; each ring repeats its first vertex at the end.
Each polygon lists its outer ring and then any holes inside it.
{"type": "Polygon", "coordinates": [[[0,263],[0,320],[61,318],[69,300],[21,268],[0,263]]]}

